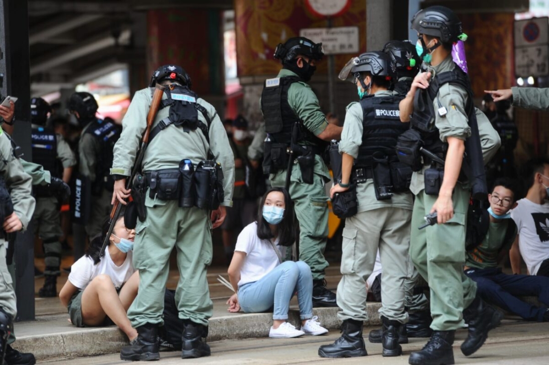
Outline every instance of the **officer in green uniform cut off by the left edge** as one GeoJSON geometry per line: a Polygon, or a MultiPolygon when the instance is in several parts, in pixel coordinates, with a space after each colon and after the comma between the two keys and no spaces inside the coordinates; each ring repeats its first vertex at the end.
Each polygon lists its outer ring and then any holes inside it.
{"type": "MultiPolygon", "coordinates": [[[[1,121],[2,123],[4,120],[1,121]]],[[[17,315],[15,291],[6,262],[7,234],[26,229],[35,209],[31,177],[14,154],[12,143],[0,129],[0,363],[35,364],[32,353],[20,353],[10,344],[15,341],[13,321],[17,315]]]]}

